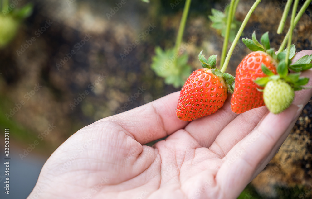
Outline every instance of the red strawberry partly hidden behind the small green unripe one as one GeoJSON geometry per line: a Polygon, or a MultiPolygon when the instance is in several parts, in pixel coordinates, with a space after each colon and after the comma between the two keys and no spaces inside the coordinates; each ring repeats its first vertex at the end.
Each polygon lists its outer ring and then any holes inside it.
{"type": "Polygon", "coordinates": [[[276,63],[274,59],[263,51],[251,52],[236,69],[234,94],[231,98],[231,109],[235,113],[243,113],[253,108],[264,106],[263,87],[254,83],[257,78],[265,77],[261,65],[264,64],[274,74],[276,63]]]}

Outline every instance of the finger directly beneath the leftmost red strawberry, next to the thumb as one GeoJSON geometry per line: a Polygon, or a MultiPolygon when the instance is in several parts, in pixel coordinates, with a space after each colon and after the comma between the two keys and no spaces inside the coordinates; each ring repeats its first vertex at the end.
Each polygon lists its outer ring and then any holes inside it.
{"type": "Polygon", "coordinates": [[[231,111],[231,97],[227,97],[223,107],[216,113],[194,120],[185,130],[202,146],[210,147],[221,130],[238,115],[231,111]]]}

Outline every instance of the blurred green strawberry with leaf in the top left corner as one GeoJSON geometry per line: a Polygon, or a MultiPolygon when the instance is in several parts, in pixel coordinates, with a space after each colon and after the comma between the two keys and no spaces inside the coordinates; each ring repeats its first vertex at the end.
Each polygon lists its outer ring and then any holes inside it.
{"type": "Polygon", "coordinates": [[[32,5],[17,9],[9,6],[9,1],[0,2],[0,48],[7,45],[16,35],[18,27],[23,19],[30,16],[32,13],[32,5]]]}

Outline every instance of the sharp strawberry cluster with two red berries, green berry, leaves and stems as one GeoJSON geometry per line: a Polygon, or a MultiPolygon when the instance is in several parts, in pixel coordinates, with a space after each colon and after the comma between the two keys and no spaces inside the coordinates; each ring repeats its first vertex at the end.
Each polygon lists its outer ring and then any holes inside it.
{"type": "MultiPolygon", "coordinates": [[[[224,72],[234,47],[260,0],[256,1],[247,13],[225,58],[224,52],[227,49],[235,2],[237,1],[231,1],[228,10],[226,35],[220,61],[221,69],[217,69],[215,65],[217,55],[212,55],[206,60],[200,52],[199,60],[203,69],[193,72],[181,89],[177,116],[183,121],[192,121],[215,113],[223,106],[228,90],[233,93],[231,109],[235,113],[243,113],[266,105],[272,113],[278,114],[293,102],[295,91],[304,89],[304,85],[309,81],[308,78],[300,77],[300,71],[312,68],[310,63],[312,56],[304,56],[296,63],[290,64],[290,59],[295,55],[295,45],[291,45],[292,31],[311,2],[306,1],[295,17],[298,5],[298,0],[295,0],[289,31],[276,54],[271,48],[268,32],[261,36],[260,42],[256,39],[255,32],[252,34],[252,39],[243,39],[244,44],[254,52],[248,54],[238,65],[235,83],[233,83],[234,77],[224,72]],[[286,40],[288,40],[288,47],[283,50],[286,40]],[[297,73],[290,73],[290,70],[297,73]],[[211,85],[216,87],[211,87],[211,85]]],[[[285,19],[283,15],[282,24],[285,24],[283,21],[285,19]]],[[[279,31],[282,31],[282,28],[279,27],[279,31]]]]}

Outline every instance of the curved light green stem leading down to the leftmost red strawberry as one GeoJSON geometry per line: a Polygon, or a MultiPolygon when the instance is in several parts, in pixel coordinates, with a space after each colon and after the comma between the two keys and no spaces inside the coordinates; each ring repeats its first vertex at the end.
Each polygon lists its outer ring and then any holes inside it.
{"type": "Polygon", "coordinates": [[[224,73],[225,70],[227,69],[227,65],[229,64],[229,61],[230,61],[230,58],[232,56],[233,50],[234,50],[234,48],[235,48],[239,38],[241,37],[241,34],[243,33],[244,28],[245,28],[245,26],[246,26],[246,24],[247,24],[247,22],[248,22],[248,20],[249,20],[249,18],[251,16],[252,12],[254,12],[254,10],[256,9],[256,7],[258,6],[258,4],[260,2],[261,2],[261,0],[256,0],[256,2],[252,5],[250,10],[248,11],[244,21],[242,22],[241,27],[239,28],[239,30],[238,30],[238,32],[236,34],[236,37],[235,37],[235,39],[234,39],[234,41],[233,41],[233,43],[232,43],[232,45],[230,47],[230,50],[227,53],[227,57],[225,58],[225,62],[224,62],[223,66],[222,66],[222,69],[221,69],[222,73],[224,73]]]}

